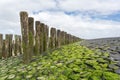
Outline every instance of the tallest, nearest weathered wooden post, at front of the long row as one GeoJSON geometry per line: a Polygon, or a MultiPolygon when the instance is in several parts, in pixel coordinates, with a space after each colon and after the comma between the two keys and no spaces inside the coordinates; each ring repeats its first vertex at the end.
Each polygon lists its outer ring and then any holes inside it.
{"type": "Polygon", "coordinates": [[[22,31],[22,47],[23,47],[23,62],[29,63],[29,27],[28,27],[28,13],[20,12],[20,22],[22,31]]]}

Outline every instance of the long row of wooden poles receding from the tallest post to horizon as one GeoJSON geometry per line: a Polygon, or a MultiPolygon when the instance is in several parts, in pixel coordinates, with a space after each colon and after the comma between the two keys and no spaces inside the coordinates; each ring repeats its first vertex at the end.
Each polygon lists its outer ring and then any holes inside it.
{"type": "Polygon", "coordinates": [[[29,63],[32,56],[37,56],[49,49],[60,48],[62,45],[80,40],[76,36],[53,27],[50,29],[49,36],[49,27],[40,21],[35,21],[34,26],[34,18],[28,17],[25,11],[20,12],[20,22],[24,63],[29,63]]]}

